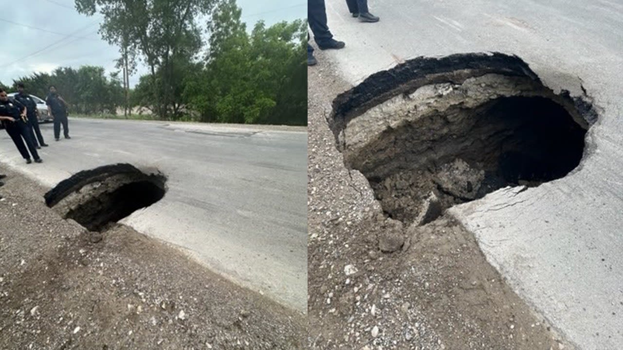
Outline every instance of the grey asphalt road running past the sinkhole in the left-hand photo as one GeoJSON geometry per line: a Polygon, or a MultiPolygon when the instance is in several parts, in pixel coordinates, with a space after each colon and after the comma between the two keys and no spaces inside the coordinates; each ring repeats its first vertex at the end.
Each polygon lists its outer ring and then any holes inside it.
{"type": "Polygon", "coordinates": [[[168,177],[164,198],[121,222],[306,312],[305,128],[84,119],[69,126],[72,139],[55,142],[52,124],[41,125],[50,144],[40,150],[42,164],[26,164],[1,131],[0,161],[50,187],[105,164],[158,168],[168,177]]]}

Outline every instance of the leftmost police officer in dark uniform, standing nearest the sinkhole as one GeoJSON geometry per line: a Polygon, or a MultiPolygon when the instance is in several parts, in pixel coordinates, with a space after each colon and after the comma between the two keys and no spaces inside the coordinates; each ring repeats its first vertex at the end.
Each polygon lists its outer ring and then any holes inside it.
{"type": "Polygon", "coordinates": [[[26,163],[32,163],[31,154],[36,163],[41,163],[42,160],[39,158],[39,154],[31,138],[31,133],[28,131],[26,113],[27,109],[24,105],[17,100],[9,100],[6,91],[0,88],[0,120],[4,124],[7,134],[11,136],[19,153],[26,159],[26,163]],[[24,140],[22,140],[22,138],[24,140]],[[24,146],[24,142],[26,142],[28,149],[24,146]],[[30,154],[28,153],[29,150],[31,151],[30,154]]]}

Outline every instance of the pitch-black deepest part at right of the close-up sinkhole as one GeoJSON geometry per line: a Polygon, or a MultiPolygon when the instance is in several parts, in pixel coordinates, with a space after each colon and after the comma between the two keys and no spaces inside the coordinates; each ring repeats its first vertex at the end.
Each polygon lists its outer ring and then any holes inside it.
{"type": "Polygon", "coordinates": [[[501,186],[559,179],[581,161],[586,130],[558,103],[543,97],[507,97],[485,108],[485,118],[479,118],[472,133],[478,137],[478,130],[489,129],[492,142],[488,149],[466,149],[459,156],[488,163],[490,176],[502,180],[501,186]]]}

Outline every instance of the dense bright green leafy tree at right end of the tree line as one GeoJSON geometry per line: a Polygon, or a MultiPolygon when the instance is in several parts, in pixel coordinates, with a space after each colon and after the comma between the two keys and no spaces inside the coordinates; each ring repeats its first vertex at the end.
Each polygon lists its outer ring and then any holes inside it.
{"type": "Polygon", "coordinates": [[[184,100],[204,121],[305,125],[305,22],[260,21],[249,34],[240,14],[235,0],[214,11],[204,70],[188,76],[184,100]]]}

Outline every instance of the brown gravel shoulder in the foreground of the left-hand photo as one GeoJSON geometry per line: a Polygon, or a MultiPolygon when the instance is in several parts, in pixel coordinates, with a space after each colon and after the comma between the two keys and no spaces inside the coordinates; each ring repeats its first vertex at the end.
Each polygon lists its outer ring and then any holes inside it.
{"type": "Polygon", "coordinates": [[[0,349],[305,348],[305,315],[124,225],[90,233],[0,170],[0,349]]]}

